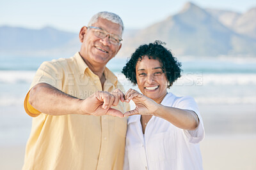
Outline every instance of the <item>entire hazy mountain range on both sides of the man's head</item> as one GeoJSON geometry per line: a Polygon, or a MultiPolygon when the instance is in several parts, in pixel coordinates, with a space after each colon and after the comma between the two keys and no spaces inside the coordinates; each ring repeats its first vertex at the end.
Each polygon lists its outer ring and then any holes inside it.
{"type": "MultiPolygon", "coordinates": [[[[129,57],[138,46],[160,40],[174,55],[256,57],[256,8],[245,13],[204,9],[186,3],[182,10],[145,29],[125,29],[118,57],[129,57]]],[[[45,27],[0,27],[0,56],[73,55],[81,43],[77,34],[45,27]]]]}

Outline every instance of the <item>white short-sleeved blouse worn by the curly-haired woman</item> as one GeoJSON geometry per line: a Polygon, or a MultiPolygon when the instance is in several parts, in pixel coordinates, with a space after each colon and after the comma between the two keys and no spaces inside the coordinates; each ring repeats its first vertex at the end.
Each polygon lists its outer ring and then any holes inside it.
{"type": "Polygon", "coordinates": [[[143,135],[141,115],[129,117],[124,170],[203,169],[198,143],[204,139],[204,125],[195,100],[168,93],[161,104],[195,111],[199,118],[198,128],[194,131],[183,130],[163,118],[153,116],[143,135]]]}

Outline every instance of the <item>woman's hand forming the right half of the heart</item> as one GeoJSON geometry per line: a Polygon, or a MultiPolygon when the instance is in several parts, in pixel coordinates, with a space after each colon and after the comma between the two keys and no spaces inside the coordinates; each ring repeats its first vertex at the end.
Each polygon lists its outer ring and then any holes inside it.
{"type": "Polygon", "coordinates": [[[134,89],[129,89],[125,93],[125,101],[134,101],[136,108],[134,110],[130,110],[124,113],[124,117],[128,117],[131,115],[152,115],[154,111],[156,111],[159,107],[152,99],[140,94],[134,89]]]}

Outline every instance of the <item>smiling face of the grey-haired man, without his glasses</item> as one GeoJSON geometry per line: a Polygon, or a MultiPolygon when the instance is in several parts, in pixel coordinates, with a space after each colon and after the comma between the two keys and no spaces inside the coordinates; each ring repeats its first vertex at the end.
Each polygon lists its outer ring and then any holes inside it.
{"type": "MultiPolygon", "coordinates": [[[[99,18],[92,26],[99,27],[110,34],[115,34],[119,37],[122,36],[122,27],[109,20],[99,18]]],[[[93,29],[88,29],[87,27],[81,29],[79,38],[83,43],[80,54],[86,63],[91,66],[106,66],[108,61],[115,57],[122,46],[121,44],[111,44],[109,42],[109,36],[103,39],[98,38],[93,33],[93,29]]]]}

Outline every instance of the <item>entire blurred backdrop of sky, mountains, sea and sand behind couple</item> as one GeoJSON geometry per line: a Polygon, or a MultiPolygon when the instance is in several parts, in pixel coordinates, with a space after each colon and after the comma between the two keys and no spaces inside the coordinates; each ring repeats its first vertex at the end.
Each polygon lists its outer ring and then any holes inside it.
{"type": "Polygon", "coordinates": [[[2,1],[0,3],[0,169],[21,169],[31,120],[23,108],[36,69],[79,51],[92,15],[120,15],[125,31],[108,67],[121,73],[141,44],[161,40],[182,62],[169,89],[192,96],[204,120],[204,169],[256,169],[256,2],[2,1]]]}

